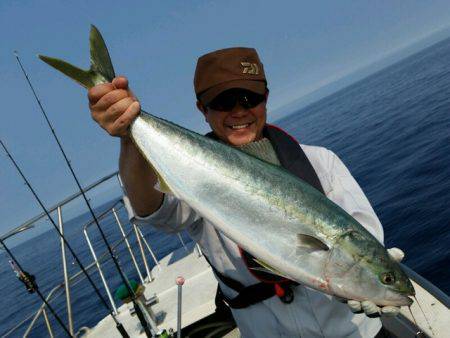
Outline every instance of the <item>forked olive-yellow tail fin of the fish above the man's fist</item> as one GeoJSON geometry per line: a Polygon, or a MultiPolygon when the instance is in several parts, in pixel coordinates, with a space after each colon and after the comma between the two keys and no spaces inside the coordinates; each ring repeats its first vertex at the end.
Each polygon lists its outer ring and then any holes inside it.
{"type": "Polygon", "coordinates": [[[89,43],[91,49],[91,68],[89,70],[78,68],[61,59],[45,55],[38,55],[38,57],[87,89],[100,83],[111,82],[115,76],[111,58],[105,41],[93,25],[91,26],[89,43]]]}

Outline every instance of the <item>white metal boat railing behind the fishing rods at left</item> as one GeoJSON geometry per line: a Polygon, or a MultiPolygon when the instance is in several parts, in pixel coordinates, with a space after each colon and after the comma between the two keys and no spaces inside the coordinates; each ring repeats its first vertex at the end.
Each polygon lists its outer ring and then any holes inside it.
{"type": "MultiPolygon", "coordinates": [[[[85,188],[83,190],[85,192],[91,191],[92,189],[98,187],[99,185],[101,185],[107,181],[110,181],[113,178],[117,178],[118,184],[121,185],[118,173],[115,172],[108,176],[103,177],[102,179],[91,184],[90,186],[88,186],[87,188],[85,188]]],[[[65,198],[61,202],[57,203],[55,206],[51,207],[48,210],[50,213],[56,211],[56,213],[58,215],[57,224],[58,224],[59,230],[62,234],[64,234],[64,220],[62,217],[63,208],[68,203],[72,202],[80,195],[81,195],[81,193],[73,194],[73,195],[65,198]]],[[[124,208],[123,200],[118,199],[117,201],[115,201],[112,204],[112,206],[108,207],[107,210],[102,212],[100,215],[96,215],[96,216],[97,216],[98,220],[100,221],[100,223],[102,221],[105,221],[107,218],[113,219],[113,223],[115,223],[117,225],[117,229],[120,232],[119,239],[116,240],[111,245],[111,249],[113,250],[114,254],[118,255],[118,250],[116,250],[116,248],[123,243],[127,249],[126,252],[128,252],[128,254],[131,257],[131,261],[134,266],[134,271],[136,272],[140,282],[142,284],[144,284],[146,282],[151,282],[151,281],[153,281],[154,277],[152,276],[152,273],[151,273],[151,268],[149,266],[148,258],[150,258],[153,261],[154,265],[158,269],[161,269],[161,265],[157,259],[157,256],[155,255],[154,251],[152,250],[150,244],[148,243],[147,239],[145,238],[141,229],[139,228],[139,226],[137,226],[134,223],[127,222],[127,223],[129,223],[129,226],[128,226],[129,229],[126,229],[124,222],[119,217],[119,212],[123,208],[124,208]],[[141,267],[139,267],[139,264],[138,264],[137,258],[136,258],[136,254],[134,252],[136,249],[133,250],[132,244],[130,243],[130,240],[132,237],[135,239],[135,242],[137,243],[137,246],[138,246],[137,250],[138,250],[139,255],[141,256],[141,260],[143,262],[143,269],[141,267]]],[[[45,217],[46,217],[46,213],[41,213],[41,214],[31,218],[29,221],[23,223],[22,225],[16,227],[15,229],[13,229],[13,230],[9,231],[8,233],[6,233],[5,235],[3,235],[2,239],[5,240],[7,238],[11,238],[23,231],[33,228],[38,221],[44,219],[45,217]]],[[[111,259],[111,256],[109,255],[109,253],[106,250],[104,250],[103,252],[100,252],[100,253],[97,252],[98,250],[97,251],[95,250],[94,245],[93,245],[93,239],[92,239],[92,235],[93,235],[92,232],[94,229],[91,229],[93,224],[94,224],[94,220],[88,222],[82,228],[83,234],[85,236],[85,239],[86,239],[88,247],[89,247],[89,251],[92,256],[92,261],[88,265],[85,266],[85,269],[88,272],[94,270],[99,273],[100,279],[103,284],[103,288],[104,288],[104,290],[107,294],[107,297],[109,299],[109,302],[111,304],[112,311],[114,312],[114,314],[117,314],[118,313],[117,304],[111,293],[111,287],[109,285],[110,283],[108,282],[108,279],[105,276],[105,272],[104,272],[104,268],[103,268],[104,264],[109,259],[111,259]]],[[[109,224],[109,226],[111,226],[111,224],[109,224]]],[[[178,234],[178,239],[180,240],[181,245],[187,250],[186,243],[184,242],[184,240],[180,234],[178,234]]],[[[53,289],[50,290],[50,292],[48,292],[48,294],[46,295],[46,301],[51,303],[57,297],[60,297],[61,295],[65,295],[65,297],[66,297],[65,306],[66,306],[66,311],[67,311],[67,323],[68,323],[67,327],[68,327],[69,332],[72,335],[75,335],[75,329],[73,326],[72,301],[71,301],[70,294],[71,294],[71,288],[73,286],[75,286],[78,282],[83,280],[85,278],[85,275],[82,273],[81,270],[77,271],[76,273],[74,273],[72,275],[69,275],[68,269],[67,269],[66,246],[65,246],[62,238],[60,239],[60,248],[61,248],[61,258],[62,258],[62,268],[63,268],[64,280],[62,283],[56,285],[53,289]]],[[[198,255],[200,256],[201,251],[198,246],[196,246],[196,250],[198,252],[198,255]]],[[[11,336],[14,333],[17,334],[17,331],[21,327],[23,327],[26,323],[29,322],[28,327],[23,334],[24,337],[27,337],[30,334],[31,330],[35,327],[36,323],[38,323],[38,319],[40,319],[41,317],[43,317],[43,319],[44,319],[49,336],[53,337],[54,330],[52,328],[51,321],[49,320],[47,310],[46,310],[46,305],[44,302],[42,302],[42,304],[39,306],[37,311],[27,315],[26,318],[24,318],[22,321],[20,321],[14,327],[10,328],[6,333],[4,333],[2,335],[2,337],[11,336]]]]}

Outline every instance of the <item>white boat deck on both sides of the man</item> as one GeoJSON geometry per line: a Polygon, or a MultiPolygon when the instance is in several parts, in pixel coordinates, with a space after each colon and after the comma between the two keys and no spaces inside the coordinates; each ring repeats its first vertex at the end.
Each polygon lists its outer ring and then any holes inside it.
{"type": "MultiPolygon", "coordinates": [[[[169,331],[172,329],[176,331],[178,286],[175,280],[180,276],[180,273],[185,279],[181,327],[187,327],[215,311],[217,281],[211,267],[203,256],[198,254],[193,243],[191,243],[187,248],[182,247],[164,257],[160,261],[160,267],[155,266],[152,269],[154,280],[145,284],[145,298],[148,300],[155,296],[157,298],[157,301],[149,308],[155,314],[157,326],[160,330],[169,331]]],[[[448,297],[445,295],[439,297],[439,299],[445,300],[441,302],[422,287],[427,285],[426,281],[421,280],[421,284],[417,284],[416,281],[413,281],[413,283],[417,292],[416,298],[421,304],[422,310],[427,314],[427,318],[425,318],[417,302],[414,302],[411,310],[418,326],[427,337],[446,337],[450,323],[448,321],[448,297]]],[[[429,285],[428,288],[430,288],[429,285]]],[[[118,309],[117,318],[131,337],[145,337],[137,316],[130,312],[131,308],[130,304],[123,304],[118,309]]],[[[395,336],[402,338],[414,338],[416,336],[418,328],[407,307],[403,307],[401,314],[395,318],[383,317],[382,319],[383,326],[393,332],[395,336]]],[[[239,333],[235,330],[231,335],[238,337],[239,333]]],[[[121,336],[115,328],[111,316],[107,316],[94,328],[88,330],[87,337],[120,338],[121,336]]]]}

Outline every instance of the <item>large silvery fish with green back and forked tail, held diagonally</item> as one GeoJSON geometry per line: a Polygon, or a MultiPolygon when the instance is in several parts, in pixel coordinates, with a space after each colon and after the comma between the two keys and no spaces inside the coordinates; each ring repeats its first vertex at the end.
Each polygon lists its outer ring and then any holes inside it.
{"type": "MultiPolygon", "coordinates": [[[[95,26],[91,66],[39,58],[85,88],[111,82],[114,68],[95,26]]],[[[358,221],[284,168],[141,112],[130,137],[160,190],[186,202],[270,271],[343,299],[411,305],[401,265],[358,221]]]]}

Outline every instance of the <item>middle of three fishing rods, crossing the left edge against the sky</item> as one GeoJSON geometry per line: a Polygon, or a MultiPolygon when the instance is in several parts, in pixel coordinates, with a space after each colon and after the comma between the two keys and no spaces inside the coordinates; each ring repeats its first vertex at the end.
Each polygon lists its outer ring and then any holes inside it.
{"type": "MultiPolygon", "coordinates": [[[[20,176],[22,177],[22,179],[25,181],[26,186],[28,187],[28,189],[31,191],[31,193],[33,194],[34,198],[36,199],[36,201],[39,203],[40,207],[42,208],[42,210],[44,211],[45,215],[48,217],[50,223],[53,225],[53,227],[55,228],[56,232],[59,234],[59,236],[62,238],[62,240],[64,241],[64,244],[67,246],[67,248],[69,249],[70,253],[72,254],[72,256],[75,258],[75,261],[77,262],[77,264],[79,265],[81,271],[83,271],[83,274],[87,277],[87,279],[89,280],[89,283],[92,285],[92,287],[94,288],[95,293],[97,294],[97,296],[100,298],[102,304],[108,309],[108,312],[110,313],[111,317],[113,318],[114,322],[116,323],[116,328],[117,330],[120,332],[120,334],[122,335],[122,337],[124,338],[129,338],[128,333],[126,332],[125,328],[123,327],[123,325],[121,323],[119,323],[117,321],[117,318],[114,316],[113,311],[111,310],[111,308],[109,307],[108,303],[106,303],[105,299],[103,298],[103,296],[101,295],[100,291],[98,290],[97,286],[95,286],[94,281],[91,279],[91,276],[88,274],[88,272],[86,271],[86,269],[84,268],[83,264],[81,263],[80,259],[78,258],[77,254],[75,253],[75,251],[72,249],[72,246],[69,244],[69,242],[67,242],[66,237],[62,234],[61,230],[59,229],[59,227],[56,225],[55,221],[53,220],[53,218],[51,217],[50,213],[48,212],[47,208],[44,206],[44,204],[42,203],[41,199],[39,198],[39,196],[37,195],[37,193],[35,192],[35,190],[33,189],[33,187],[31,186],[30,182],[28,181],[28,179],[25,177],[25,175],[23,174],[22,170],[20,169],[19,165],[17,164],[17,162],[14,160],[14,158],[12,157],[11,153],[9,152],[8,148],[6,148],[6,145],[3,143],[2,140],[0,140],[0,145],[2,146],[2,148],[5,150],[6,155],[8,155],[9,159],[11,160],[12,164],[14,165],[14,167],[16,168],[17,172],[20,174],[20,176]]],[[[17,265],[19,268],[20,266],[17,265]]]]}

